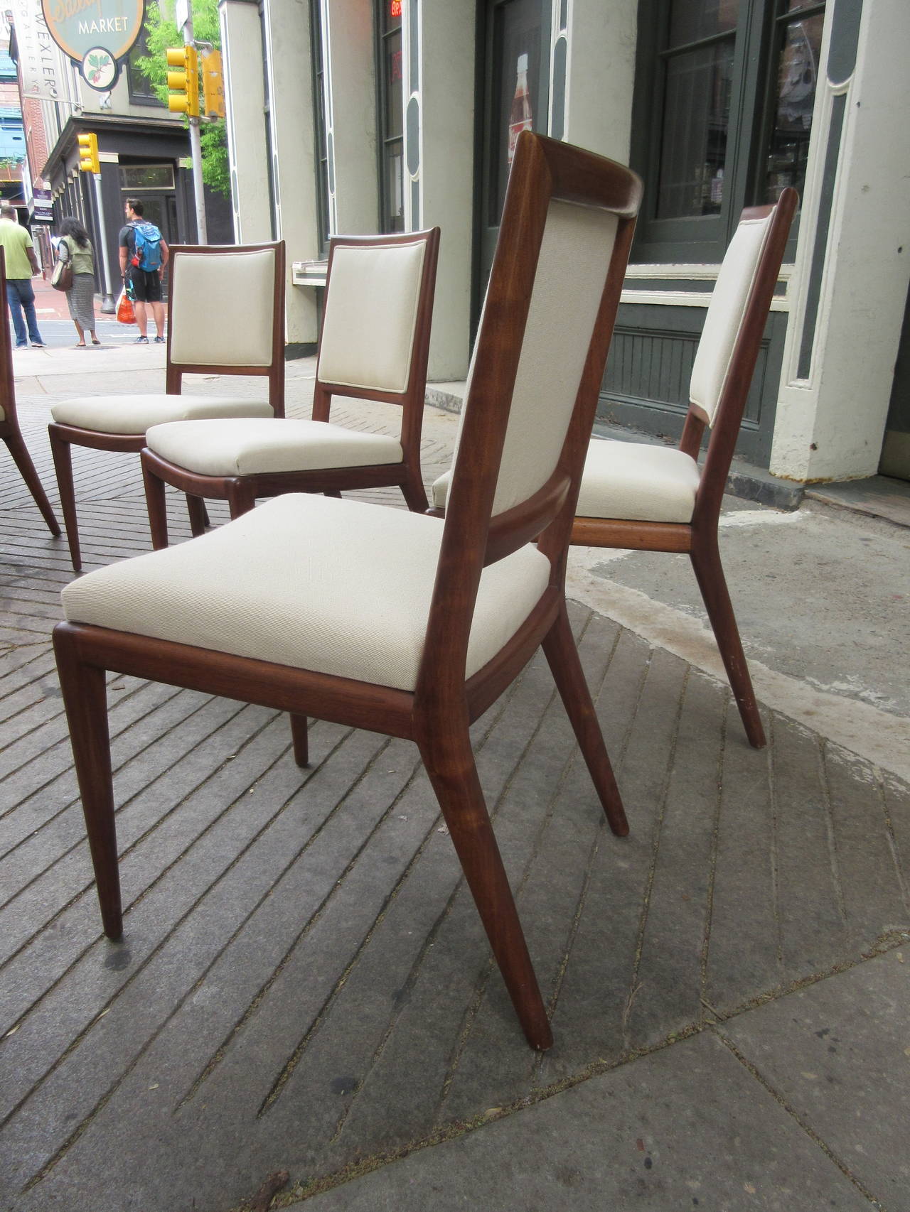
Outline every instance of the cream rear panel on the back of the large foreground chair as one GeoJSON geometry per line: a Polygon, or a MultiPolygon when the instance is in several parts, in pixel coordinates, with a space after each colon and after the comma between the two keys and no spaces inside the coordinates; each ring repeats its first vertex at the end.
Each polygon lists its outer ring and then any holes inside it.
{"type": "Polygon", "coordinates": [[[556,470],[603,296],[618,222],[608,211],[550,202],[493,516],[527,501],[556,470]]]}

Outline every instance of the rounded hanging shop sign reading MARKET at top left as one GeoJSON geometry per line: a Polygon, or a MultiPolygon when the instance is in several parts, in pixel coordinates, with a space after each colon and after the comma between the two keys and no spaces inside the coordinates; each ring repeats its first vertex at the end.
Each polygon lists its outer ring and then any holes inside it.
{"type": "Polygon", "coordinates": [[[91,88],[107,92],[142,33],[146,0],[41,0],[53,41],[91,88]]]}

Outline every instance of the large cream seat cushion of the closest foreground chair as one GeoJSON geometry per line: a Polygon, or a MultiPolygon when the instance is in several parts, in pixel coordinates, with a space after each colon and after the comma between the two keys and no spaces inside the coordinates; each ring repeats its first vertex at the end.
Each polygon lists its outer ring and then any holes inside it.
{"type": "MultiPolygon", "coordinates": [[[[80,577],[70,622],[353,678],[416,685],[443,522],[289,493],[218,530],[80,577]]],[[[484,568],[466,675],[514,635],[550,561],[527,545],[484,568]]]]}

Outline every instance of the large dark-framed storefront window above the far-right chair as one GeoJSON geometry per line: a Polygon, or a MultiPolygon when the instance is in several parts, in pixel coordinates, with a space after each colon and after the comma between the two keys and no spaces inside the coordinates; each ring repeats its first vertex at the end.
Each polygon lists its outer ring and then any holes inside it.
{"type": "Polygon", "coordinates": [[[633,259],[720,261],[744,206],[806,183],[825,0],[642,0],[633,259]]]}

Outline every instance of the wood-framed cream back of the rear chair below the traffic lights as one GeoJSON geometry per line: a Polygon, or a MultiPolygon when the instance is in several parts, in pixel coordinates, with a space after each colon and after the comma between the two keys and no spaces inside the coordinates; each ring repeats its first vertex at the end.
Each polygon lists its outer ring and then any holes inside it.
{"type": "Polygon", "coordinates": [[[284,240],[269,244],[174,245],[165,390],[184,375],[268,379],[268,402],[284,416],[284,240]],[[207,318],[207,322],[200,321],[207,318]]]}

